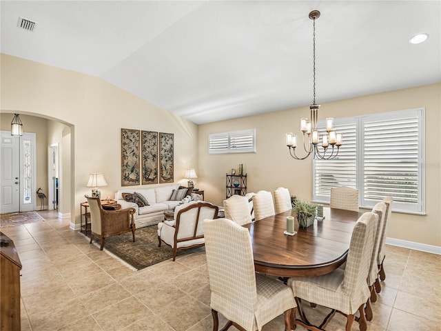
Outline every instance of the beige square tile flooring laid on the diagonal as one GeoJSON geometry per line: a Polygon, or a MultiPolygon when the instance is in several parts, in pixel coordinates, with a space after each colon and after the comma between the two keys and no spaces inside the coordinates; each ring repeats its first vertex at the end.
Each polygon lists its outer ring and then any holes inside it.
{"type": "MultiPolygon", "coordinates": [[[[134,271],[70,230],[70,219],[40,214],[46,221],[1,229],[23,264],[21,330],[212,330],[203,250],[134,271]]],[[[388,245],[384,264],[368,330],[441,330],[441,256],[388,245]]],[[[315,321],[329,310],[306,312],[315,321]]],[[[263,328],[283,329],[283,315],[263,328]]],[[[345,330],[345,318],[327,330],[345,330]]]]}

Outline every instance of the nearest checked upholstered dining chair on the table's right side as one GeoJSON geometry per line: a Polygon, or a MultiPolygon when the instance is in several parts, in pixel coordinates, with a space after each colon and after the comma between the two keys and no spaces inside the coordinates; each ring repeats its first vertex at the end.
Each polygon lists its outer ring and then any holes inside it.
{"type": "MultiPolygon", "coordinates": [[[[377,221],[377,214],[365,212],[354,225],[345,270],[338,268],[321,276],[288,279],[287,284],[292,288],[298,303],[300,299],[305,299],[310,303],[331,308],[331,313],[318,326],[320,330],[325,329],[336,312],[347,317],[346,331],[351,330],[357,311],[360,312],[358,318],[360,330],[367,330],[365,303],[370,297],[370,292],[366,280],[377,221]]],[[[299,304],[298,306],[301,312],[301,307],[299,304]]],[[[307,330],[318,330],[316,326],[311,328],[302,320],[296,320],[296,323],[307,330]]]]}

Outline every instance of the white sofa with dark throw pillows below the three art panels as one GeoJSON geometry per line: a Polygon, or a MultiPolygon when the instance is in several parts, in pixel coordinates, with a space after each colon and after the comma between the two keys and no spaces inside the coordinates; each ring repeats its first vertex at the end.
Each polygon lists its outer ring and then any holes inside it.
{"type": "Polygon", "coordinates": [[[170,200],[173,190],[177,190],[179,186],[179,184],[172,184],[155,188],[121,188],[115,193],[115,200],[121,204],[121,208],[134,208],[136,210],[134,215],[136,228],[143,228],[163,221],[165,210],[174,209],[182,202],[181,200],[170,200]],[[139,207],[136,203],[123,199],[123,193],[134,192],[142,194],[149,205],[139,207]]]}

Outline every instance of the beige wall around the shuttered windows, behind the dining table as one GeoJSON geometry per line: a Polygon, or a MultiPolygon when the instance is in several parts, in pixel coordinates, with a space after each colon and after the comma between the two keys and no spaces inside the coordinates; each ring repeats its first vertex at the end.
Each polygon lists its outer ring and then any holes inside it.
{"type": "MultiPolygon", "coordinates": [[[[374,94],[324,103],[319,119],[351,117],[376,112],[391,112],[424,107],[426,109],[426,212],[424,216],[393,213],[388,237],[441,246],[440,221],[440,106],[441,84],[374,94]]],[[[300,118],[309,117],[309,108],[295,108],[220,121],[199,126],[198,186],[209,201],[225,199],[225,173],[243,163],[248,174],[248,192],[273,191],[279,186],[302,199],[312,197],[311,158],[297,161],[289,156],[285,133],[300,137],[300,118]],[[251,154],[209,155],[208,134],[256,128],[257,152],[251,154]]],[[[343,147],[344,148],[344,147],[343,147]]]]}

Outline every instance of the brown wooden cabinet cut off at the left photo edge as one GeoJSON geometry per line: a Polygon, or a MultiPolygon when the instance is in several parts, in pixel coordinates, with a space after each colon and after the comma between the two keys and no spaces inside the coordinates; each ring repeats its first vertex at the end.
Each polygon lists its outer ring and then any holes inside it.
{"type": "Polygon", "coordinates": [[[21,261],[14,241],[0,232],[0,321],[1,331],[20,330],[21,261]]]}

